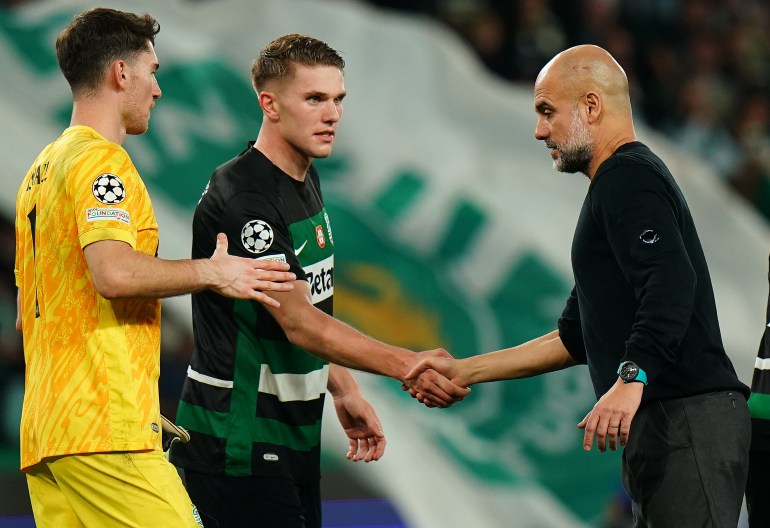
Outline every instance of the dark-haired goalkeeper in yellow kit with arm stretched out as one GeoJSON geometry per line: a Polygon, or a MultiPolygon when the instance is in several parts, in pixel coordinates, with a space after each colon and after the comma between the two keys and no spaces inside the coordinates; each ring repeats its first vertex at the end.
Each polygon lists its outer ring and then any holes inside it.
{"type": "MultiPolygon", "coordinates": [[[[228,255],[156,257],[158,224],[128,153],[160,98],[150,15],[97,8],[56,41],[70,127],[16,200],[17,328],[26,390],[21,468],[39,528],[201,525],[161,450],[161,297],[211,289],[277,306],[288,265],[228,255]]],[[[284,282],[288,281],[288,282],[284,282]]]]}

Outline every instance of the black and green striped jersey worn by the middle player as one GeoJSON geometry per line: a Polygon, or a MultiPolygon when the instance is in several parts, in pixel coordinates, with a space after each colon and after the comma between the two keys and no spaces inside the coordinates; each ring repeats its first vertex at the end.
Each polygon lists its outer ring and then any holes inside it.
{"type": "MultiPolygon", "coordinates": [[[[289,263],[332,315],[334,239],[312,165],[297,181],[249,143],[216,169],[195,209],[193,258],[208,258],[219,232],[231,255],[289,263]]],[[[320,478],[328,363],[291,343],[256,301],[204,290],[192,310],[195,346],[176,415],[191,439],[174,445],[172,462],[208,475],[320,478]]]]}

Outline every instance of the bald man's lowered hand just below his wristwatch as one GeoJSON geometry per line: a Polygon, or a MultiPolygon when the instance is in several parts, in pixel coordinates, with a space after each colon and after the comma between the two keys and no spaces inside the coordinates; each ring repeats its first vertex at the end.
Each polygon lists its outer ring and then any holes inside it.
{"type": "Polygon", "coordinates": [[[631,431],[631,421],[642,402],[643,383],[623,383],[618,378],[615,385],[599,398],[594,408],[578,424],[579,429],[585,429],[583,449],[590,451],[593,446],[594,434],[599,451],[604,453],[609,448],[615,451],[620,445],[628,442],[631,431]]]}

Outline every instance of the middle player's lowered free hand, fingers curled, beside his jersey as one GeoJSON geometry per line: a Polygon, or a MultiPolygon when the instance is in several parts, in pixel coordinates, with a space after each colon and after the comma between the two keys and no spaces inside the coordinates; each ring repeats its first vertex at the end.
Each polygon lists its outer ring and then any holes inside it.
{"type": "Polygon", "coordinates": [[[379,460],[387,442],[380,419],[369,402],[360,393],[348,393],[334,398],[334,409],[350,440],[345,456],[353,462],[379,460]]]}

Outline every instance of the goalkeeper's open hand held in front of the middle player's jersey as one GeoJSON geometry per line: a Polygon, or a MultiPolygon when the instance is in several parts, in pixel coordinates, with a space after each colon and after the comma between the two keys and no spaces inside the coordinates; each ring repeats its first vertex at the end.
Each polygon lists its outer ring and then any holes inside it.
{"type": "Polygon", "coordinates": [[[217,247],[210,261],[217,266],[219,280],[211,288],[220,295],[234,299],[252,299],[275,308],[280,303],[263,291],[289,291],[297,279],[287,273],[289,265],[277,260],[256,260],[227,253],[227,236],[217,235],[217,247]]]}

